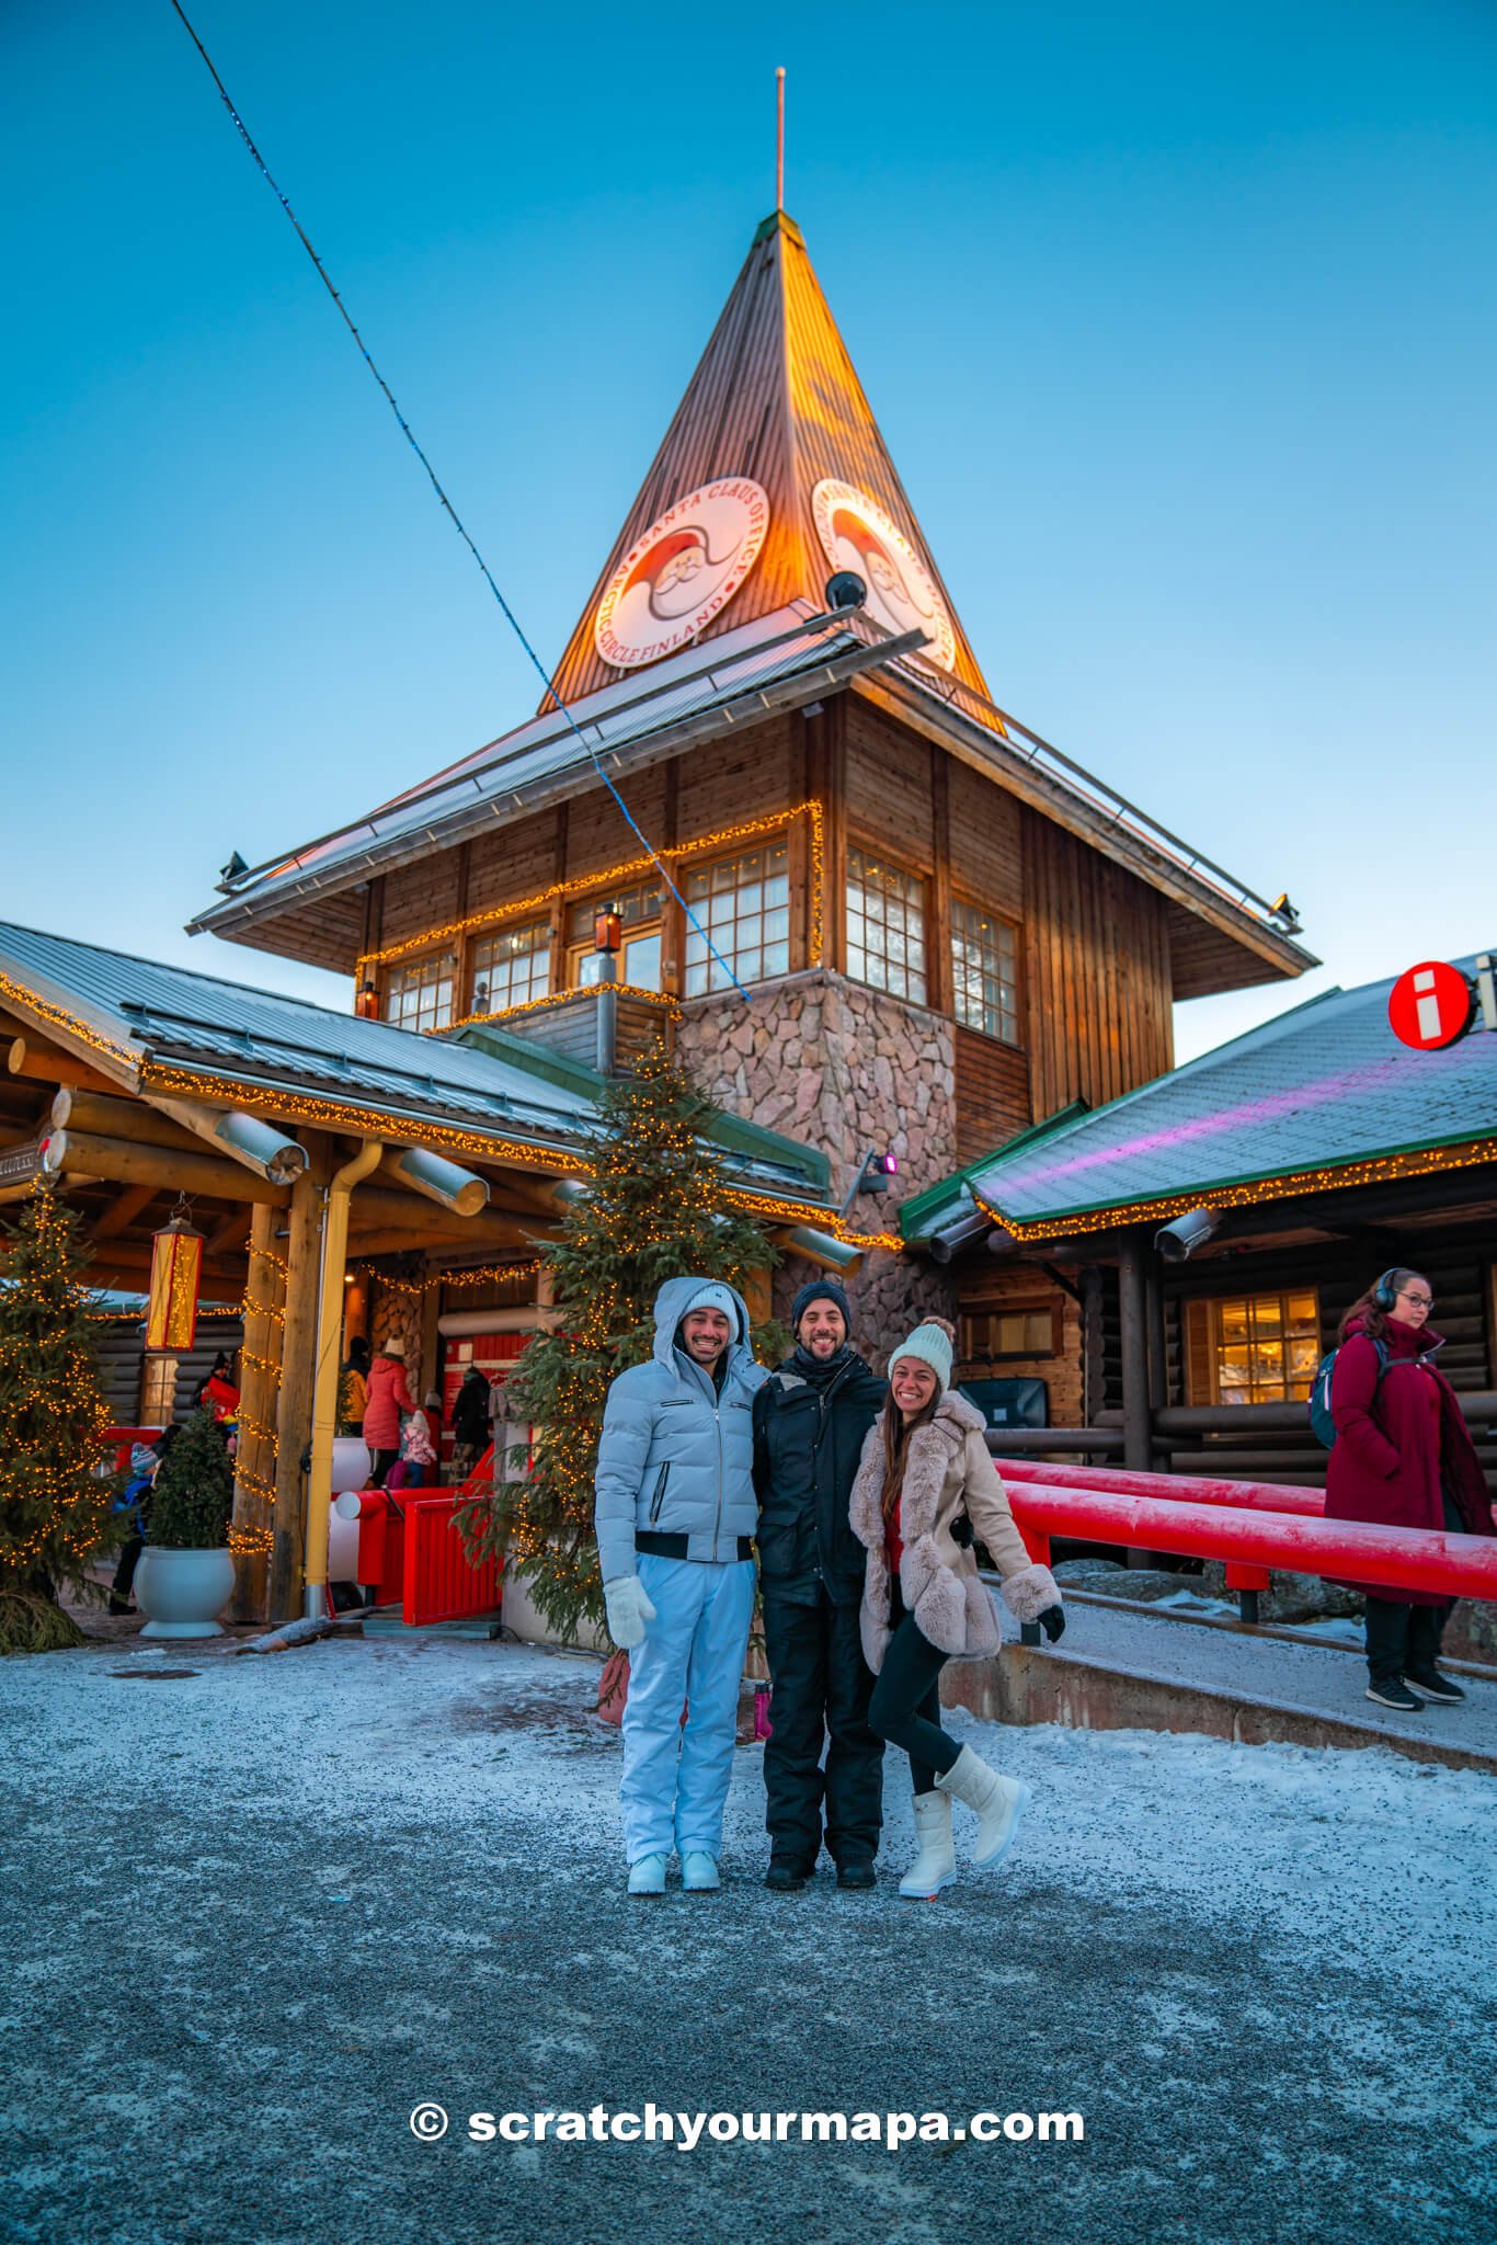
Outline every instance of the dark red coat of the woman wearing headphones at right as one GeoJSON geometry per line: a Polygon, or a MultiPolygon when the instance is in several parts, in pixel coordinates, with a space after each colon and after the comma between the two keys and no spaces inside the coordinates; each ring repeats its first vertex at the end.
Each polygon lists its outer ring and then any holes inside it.
{"type": "MultiPolygon", "coordinates": [[[[1353,1318],[1335,1354],[1326,1461],[1326,1520],[1376,1520],[1396,1529],[1443,1529],[1445,1491],[1468,1536],[1493,1536],[1493,1504],[1461,1405],[1430,1363],[1441,1336],[1398,1318],[1383,1329],[1389,1365],[1353,1318]]],[[[1358,1585],[1360,1587],[1360,1585],[1358,1585]]],[[[1445,1605],[1432,1589],[1376,1589],[1396,1605],[1445,1605]]]]}

